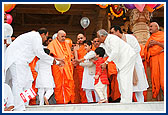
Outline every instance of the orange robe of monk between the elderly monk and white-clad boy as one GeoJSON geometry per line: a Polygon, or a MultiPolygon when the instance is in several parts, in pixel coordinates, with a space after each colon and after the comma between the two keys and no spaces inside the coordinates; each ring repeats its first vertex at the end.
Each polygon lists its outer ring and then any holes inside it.
{"type": "MultiPolygon", "coordinates": [[[[82,59],[87,51],[84,48],[84,45],[80,46],[78,53],[78,59],[82,59]]],[[[85,91],[81,88],[82,86],[82,78],[83,78],[84,68],[82,66],[77,65],[74,68],[74,80],[75,80],[75,103],[87,103],[87,98],[85,91]]]]}

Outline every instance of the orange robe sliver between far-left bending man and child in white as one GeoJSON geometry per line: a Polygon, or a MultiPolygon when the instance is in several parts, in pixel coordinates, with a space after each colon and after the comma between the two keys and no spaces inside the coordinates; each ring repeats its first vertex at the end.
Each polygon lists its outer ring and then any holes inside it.
{"type": "MultiPolygon", "coordinates": [[[[32,75],[33,75],[33,83],[32,83],[32,88],[33,90],[35,91],[35,93],[37,94],[38,92],[38,89],[35,88],[35,83],[36,83],[36,78],[37,78],[37,72],[35,71],[35,67],[36,67],[36,62],[38,61],[38,57],[36,56],[33,61],[31,63],[29,63],[29,66],[30,66],[30,69],[31,69],[31,72],[32,72],[32,75]]],[[[36,97],[34,97],[33,99],[31,99],[29,101],[29,105],[36,105],[36,97]]]]}

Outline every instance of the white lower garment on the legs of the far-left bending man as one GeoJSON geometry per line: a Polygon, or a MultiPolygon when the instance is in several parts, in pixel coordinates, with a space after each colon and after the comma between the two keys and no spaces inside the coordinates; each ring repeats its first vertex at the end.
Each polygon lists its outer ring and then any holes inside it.
{"type": "MultiPolygon", "coordinates": [[[[14,96],[14,105],[15,105],[14,110],[15,111],[26,110],[25,103],[22,100],[20,93],[22,93],[23,91],[30,89],[32,87],[31,77],[29,76],[30,79],[26,79],[26,77],[25,77],[25,76],[29,75],[28,71],[30,68],[28,68],[28,67],[26,67],[27,69],[24,68],[26,73],[24,73],[25,71],[20,71],[20,69],[23,68],[23,66],[21,67],[19,64],[13,63],[9,67],[10,73],[12,75],[12,93],[14,96]],[[18,76],[22,76],[22,78],[20,79],[18,76]]],[[[31,73],[31,71],[30,71],[30,73],[31,73]]]]}

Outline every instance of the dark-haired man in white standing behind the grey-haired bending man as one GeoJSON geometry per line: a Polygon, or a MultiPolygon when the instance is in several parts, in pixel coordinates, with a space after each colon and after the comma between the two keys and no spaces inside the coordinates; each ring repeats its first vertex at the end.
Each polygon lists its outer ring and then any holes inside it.
{"type": "Polygon", "coordinates": [[[138,102],[144,102],[143,91],[147,90],[149,85],[146,79],[144,66],[140,56],[140,45],[133,35],[122,33],[121,28],[119,26],[113,26],[110,31],[112,34],[118,36],[119,38],[127,42],[136,53],[135,71],[137,74],[138,81],[133,86],[133,92],[135,92],[135,96],[138,102]]]}

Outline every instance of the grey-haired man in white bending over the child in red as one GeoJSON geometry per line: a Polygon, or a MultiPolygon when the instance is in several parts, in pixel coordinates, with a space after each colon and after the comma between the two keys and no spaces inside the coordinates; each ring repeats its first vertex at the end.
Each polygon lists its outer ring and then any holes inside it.
{"type": "Polygon", "coordinates": [[[118,83],[121,93],[121,103],[132,102],[133,91],[133,70],[135,65],[135,51],[121,40],[118,36],[108,34],[107,31],[101,29],[97,32],[99,41],[104,45],[105,51],[109,56],[102,69],[106,68],[106,64],[113,61],[118,69],[118,83]]]}

